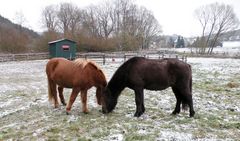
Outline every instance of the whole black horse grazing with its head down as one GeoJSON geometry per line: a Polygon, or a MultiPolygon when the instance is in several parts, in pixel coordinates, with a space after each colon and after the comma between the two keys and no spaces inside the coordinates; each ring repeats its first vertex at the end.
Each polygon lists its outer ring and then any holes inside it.
{"type": "Polygon", "coordinates": [[[121,91],[128,87],[135,92],[136,113],[141,116],[144,111],[143,90],[164,90],[172,87],[177,99],[176,107],[172,114],[180,113],[182,108],[189,106],[190,117],[195,112],[192,100],[192,71],[191,66],[178,59],[165,58],[161,60],[133,57],[122,64],[112,76],[104,90],[102,112],[111,112],[116,104],[121,91]]]}

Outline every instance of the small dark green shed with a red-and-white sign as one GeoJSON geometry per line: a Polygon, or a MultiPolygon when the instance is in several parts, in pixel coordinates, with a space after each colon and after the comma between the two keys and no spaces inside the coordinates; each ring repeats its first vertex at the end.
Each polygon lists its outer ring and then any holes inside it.
{"type": "Polygon", "coordinates": [[[64,57],[73,60],[76,57],[76,42],[69,39],[60,39],[48,43],[50,58],[64,57]]]}

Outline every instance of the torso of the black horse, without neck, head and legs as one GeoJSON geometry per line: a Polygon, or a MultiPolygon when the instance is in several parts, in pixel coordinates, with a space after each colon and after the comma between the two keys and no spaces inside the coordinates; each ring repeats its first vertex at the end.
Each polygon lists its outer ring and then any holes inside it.
{"type": "Polygon", "coordinates": [[[178,59],[145,59],[137,57],[131,63],[128,73],[130,87],[142,86],[150,90],[185,84],[191,79],[191,68],[178,59]]]}

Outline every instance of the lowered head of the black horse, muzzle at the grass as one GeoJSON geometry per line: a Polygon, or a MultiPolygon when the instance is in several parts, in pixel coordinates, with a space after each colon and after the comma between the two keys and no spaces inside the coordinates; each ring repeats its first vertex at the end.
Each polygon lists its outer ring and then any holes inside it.
{"type": "Polygon", "coordinates": [[[102,95],[102,112],[104,114],[112,112],[116,104],[117,97],[112,94],[111,90],[108,87],[106,87],[102,95]]]}

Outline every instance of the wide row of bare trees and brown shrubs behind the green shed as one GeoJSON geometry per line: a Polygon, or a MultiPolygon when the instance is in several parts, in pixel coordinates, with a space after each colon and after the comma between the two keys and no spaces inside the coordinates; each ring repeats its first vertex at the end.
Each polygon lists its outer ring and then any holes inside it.
{"type": "Polygon", "coordinates": [[[146,49],[161,33],[153,13],[131,0],[104,1],[84,9],[72,3],[50,5],[43,9],[42,21],[47,31],[38,42],[39,51],[59,38],[76,41],[78,51],[146,49]]]}

